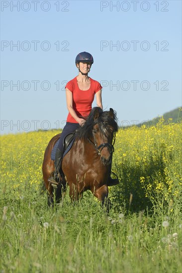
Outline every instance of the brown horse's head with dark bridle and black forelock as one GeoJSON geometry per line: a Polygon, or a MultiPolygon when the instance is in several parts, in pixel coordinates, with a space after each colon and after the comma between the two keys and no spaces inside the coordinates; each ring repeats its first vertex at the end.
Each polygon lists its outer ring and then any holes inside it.
{"type": "Polygon", "coordinates": [[[93,110],[92,136],[95,149],[100,155],[103,165],[109,165],[112,160],[115,132],[118,130],[116,115],[112,108],[102,111],[99,107],[93,110]],[[114,138],[114,140],[113,140],[114,138]]]}

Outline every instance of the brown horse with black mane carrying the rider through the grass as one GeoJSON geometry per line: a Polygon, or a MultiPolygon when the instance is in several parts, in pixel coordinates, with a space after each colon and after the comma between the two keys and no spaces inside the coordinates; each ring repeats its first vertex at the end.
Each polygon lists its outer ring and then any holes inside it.
{"type": "MultiPolygon", "coordinates": [[[[102,205],[108,204],[107,183],[117,130],[116,115],[112,108],[110,111],[102,111],[99,107],[91,110],[85,124],[77,130],[72,148],[63,157],[62,175],[55,195],[57,203],[60,202],[62,192],[66,190],[68,183],[70,198],[73,201],[79,200],[84,191],[91,190],[102,205]]],[[[51,151],[59,137],[60,134],[50,140],[42,166],[43,180],[48,192],[48,205],[54,203],[54,185],[49,182],[55,169],[54,161],[51,160],[51,151]]]]}

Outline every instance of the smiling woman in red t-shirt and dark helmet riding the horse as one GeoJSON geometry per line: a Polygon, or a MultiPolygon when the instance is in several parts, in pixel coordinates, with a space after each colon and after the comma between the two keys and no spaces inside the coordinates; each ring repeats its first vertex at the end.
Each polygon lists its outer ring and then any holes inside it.
{"type": "MultiPolygon", "coordinates": [[[[91,65],[93,64],[93,57],[88,52],[81,52],[77,55],[75,60],[76,66],[79,69],[79,74],[74,79],[70,80],[66,85],[66,101],[69,111],[67,123],[62,131],[58,148],[55,156],[55,173],[54,180],[59,181],[59,170],[61,168],[63,156],[63,140],[65,136],[75,132],[85,122],[86,117],[91,112],[91,104],[96,96],[96,104],[101,109],[101,85],[98,81],[91,79],[88,76],[91,65]]],[[[109,178],[111,185],[116,185],[119,182],[116,179],[109,178]]]]}

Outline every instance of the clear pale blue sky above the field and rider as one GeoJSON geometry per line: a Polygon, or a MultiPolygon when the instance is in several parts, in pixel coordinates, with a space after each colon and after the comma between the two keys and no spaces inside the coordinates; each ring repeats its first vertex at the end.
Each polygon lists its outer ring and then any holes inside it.
{"type": "Polygon", "coordinates": [[[119,125],[182,105],[181,0],[0,4],[1,134],[63,128],[64,86],[82,51],[93,55],[90,76],[119,125]]]}

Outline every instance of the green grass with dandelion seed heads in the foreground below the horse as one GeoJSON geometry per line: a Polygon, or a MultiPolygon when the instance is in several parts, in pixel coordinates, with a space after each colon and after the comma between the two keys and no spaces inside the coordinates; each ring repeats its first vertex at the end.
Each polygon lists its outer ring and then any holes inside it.
{"type": "Polygon", "coordinates": [[[75,205],[66,195],[55,209],[31,191],[1,205],[1,272],[182,272],[180,219],[123,205],[107,215],[89,192],[75,205]]]}

